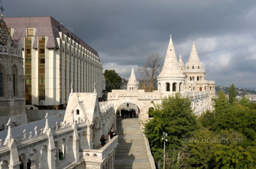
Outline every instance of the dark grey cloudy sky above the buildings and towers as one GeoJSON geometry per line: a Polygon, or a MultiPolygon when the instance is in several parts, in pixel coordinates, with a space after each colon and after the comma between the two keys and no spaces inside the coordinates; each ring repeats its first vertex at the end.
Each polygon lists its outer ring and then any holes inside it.
{"type": "MultiPolygon", "coordinates": [[[[256,87],[256,0],[0,0],[5,17],[52,16],[128,79],[172,34],[186,64],[195,41],[206,79],[256,87]]],[[[138,74],[138,73],[137,73],[138,74]]]]}

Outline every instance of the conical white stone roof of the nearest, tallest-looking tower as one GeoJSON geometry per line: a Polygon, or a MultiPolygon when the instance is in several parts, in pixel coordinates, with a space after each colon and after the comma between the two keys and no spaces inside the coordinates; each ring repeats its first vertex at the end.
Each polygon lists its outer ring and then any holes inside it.
{"type": "Polygon", "coordinates": [[[169,78],[169,77],[185,77],[181,73],[177,56],[175,54],[174,46],[172,43],[172,35],[170,35],[170,41],[166,52],[166,58],[163,64],[163,70],[157,78],[169,78]]]}

